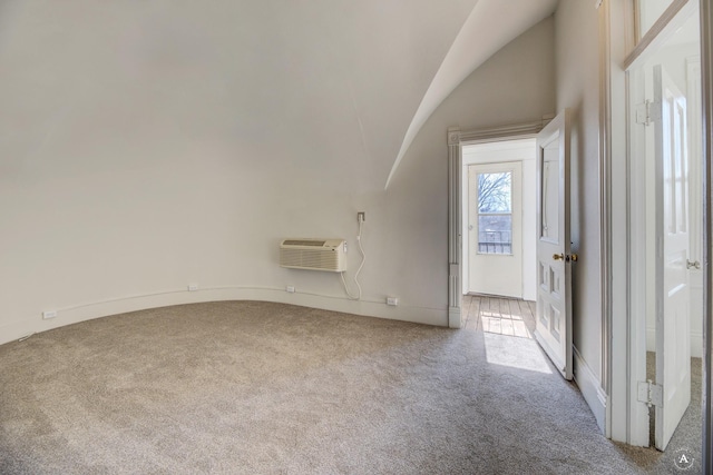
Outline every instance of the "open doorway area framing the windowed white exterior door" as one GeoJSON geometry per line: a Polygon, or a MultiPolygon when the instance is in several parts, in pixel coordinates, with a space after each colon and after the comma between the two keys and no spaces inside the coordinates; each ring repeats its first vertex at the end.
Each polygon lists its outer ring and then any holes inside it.
{"type": "Polygon", "coordinates": [[[465,295],[536,299],[535,138],[462,146],[465,295]]]}

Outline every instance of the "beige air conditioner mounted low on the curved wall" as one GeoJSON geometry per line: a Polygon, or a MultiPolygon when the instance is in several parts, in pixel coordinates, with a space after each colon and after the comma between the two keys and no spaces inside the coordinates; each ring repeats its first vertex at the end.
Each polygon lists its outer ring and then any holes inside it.
{"type": "Polygon", "coordinates": [[[292,269],[346,270],[344,239],[283,239],[280,243],[280,265],[292,269]]]}

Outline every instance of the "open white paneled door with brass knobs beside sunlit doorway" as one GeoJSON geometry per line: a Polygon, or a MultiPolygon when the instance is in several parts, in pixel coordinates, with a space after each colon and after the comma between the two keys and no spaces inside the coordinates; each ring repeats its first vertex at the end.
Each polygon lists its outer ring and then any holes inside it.
{"type": "Polygon", "coordinates": [[[572,379],[569,241],[569,112],[537,136],[537,325],[535,337],[565,379],[572,379]]]}

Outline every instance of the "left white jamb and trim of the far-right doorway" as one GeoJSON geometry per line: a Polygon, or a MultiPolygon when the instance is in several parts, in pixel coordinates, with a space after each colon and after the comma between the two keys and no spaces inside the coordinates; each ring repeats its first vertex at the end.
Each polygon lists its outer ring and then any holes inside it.
{"type": "Polygon", "coordinates": [[[656,50],[685,21],[695,0],[674,0],[636,42],[634,0],[602,0],[599,7],[599,90],[602,172],[603,386],[608,395],[605,435],[614,441],[648,446],[648,408],[638,402],[637,383],[646,380],[646,289],[639,263],[646,256],[644,188],[632,177],[644,172],[642,140],[631,128],[634,106],[645,99],[629,95],[647,53],[656,50]],[[616,157],[616,159],[615,159],[616,157]],[[626,157],[625,160],[619,157],[626,157]],[[626,206],[613,207],[612,202],[626,206]],[[626,364],[622,365],[622,362],[626,364]],[[614,364],[617,363],[617,364],[614,364]]]}

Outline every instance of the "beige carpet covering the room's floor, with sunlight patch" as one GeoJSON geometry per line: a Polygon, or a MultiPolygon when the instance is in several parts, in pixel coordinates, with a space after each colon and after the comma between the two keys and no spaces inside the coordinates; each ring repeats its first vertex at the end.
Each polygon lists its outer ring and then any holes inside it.
{"type": "Polygon", "coordinates": [[[636,474],[526,336],[227,301],[0,346],[1,474],[636,474]]]}

